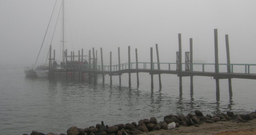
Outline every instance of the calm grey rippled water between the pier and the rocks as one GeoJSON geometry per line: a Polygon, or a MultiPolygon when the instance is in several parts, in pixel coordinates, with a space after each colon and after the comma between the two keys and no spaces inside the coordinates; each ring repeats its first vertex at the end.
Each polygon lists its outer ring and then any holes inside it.
{"type": "Polygon", "coordinates": [[[220,80],[220,99],[215,95],[215,80],[194,77],[194,91],[190,92],[190,78],[183,77],[183,94],[179,94],[178,77],[154,75],[154,90],[150,88],[150,75],[140,73],[137,87],[136,74],[132,74],[132,88],[128,88],[128,74],[109,76],[105,83],[85,81],[49,81],[27,78],[23,69],[0,69],[0,134],[66,133],[70,126],[86,128],[101,123],[138,122],[167,114],[187,114],[195,109],[204,114],[233,110],[237,113],[255,111],[256,80],[232,79],[233,97],[229,96],[228,80],[220,80]]]}

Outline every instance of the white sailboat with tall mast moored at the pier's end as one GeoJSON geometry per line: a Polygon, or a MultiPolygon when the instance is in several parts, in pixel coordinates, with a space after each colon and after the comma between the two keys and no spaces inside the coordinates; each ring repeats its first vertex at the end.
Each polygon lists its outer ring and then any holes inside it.
{"type": "MultiPolygon", "coordinates": [[[[56,1],[57,2],[57,1],[56,1]]],[[[55,5],[56,5],[56,2],[55,2],[55,5]]],[[[55,5],[54,5],[54,9],[55,9],[55,5]]],[[[53,9],[53,12],[54,12],[54,9],[53,9]]],[[[50,20],[49,20],[49,23],[48,23],[48,26],[47,26],[47,30],[46,30],[46,33],[44,34],[44,39],[43,39],[43,42],[42,42],[42,45],[41,45],[41,48],[39,50],[39,53],[38,53],[38,56],[41,52],[41,49],[42,49],[42,46],[43,46],[43,43],[44,43],[44,40],[46,38],[46,34],[47,34],[47,31],[48,31],[48,28],[49,28],[49,24],[52,20],[52,16],[53,16],[53,12],[52,12],[52,15],[50,17],[50,20]]],[[[65,53],[64,53],[64,0],[62,0],[62,15],[63,15],[63,19],[62,19],[62,62],[64,63],[64,60],[65,60],[65,53]]],[[[57,21],[58,22],[58,21],[57,21]]],[[[57,24],[56,22],[56,24],[57,24]]],[[[56,27],[56,26],[55,26],[56,27]]],[[[54,35],[54,33],[53,33],[54,35]]],[[[30,77],[48,77],[48,66],[46,66],[46,64],[44,65],[40,65],[40,66],[37,66],[37,68],[35,68],[36,66],[36,63],[37,63],[37,60],[38,60],[38,56],[37,56],[37,59],[36,59],[36,62],[35,64],[33,64],[32,68],[26,68],[24,70],[25,72],[25,75],[26,76],[30,76],[30,77]]],[[[47,56],[48,57],[48,56],[47,56]]]]}

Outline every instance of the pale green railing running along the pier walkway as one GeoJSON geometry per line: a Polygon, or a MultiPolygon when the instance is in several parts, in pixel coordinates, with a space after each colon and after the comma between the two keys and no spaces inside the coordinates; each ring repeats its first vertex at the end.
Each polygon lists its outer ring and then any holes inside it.
{"type": "MultiPolygon", "coordinates": [[[[160,65],[161,70],[176,70],[176,65],[177,63],[146,63],[146,62],[138,62],[138,63],[130,63],[130,69],[152,69],[152,70],[157,70],[158,69],[158,64],[160,65]]],[[[185,67],[186,63],[182,63],[182,67],[185,67]]],[[[215,64],[214,63],[190,63],[190,71],[201,71],[205,72],[206,67],[205,66],[212,66],[211,68],[207,68],[208,70],[211,70],[210,72],[215,72],[215,64]],[[198,66],[201,65],[201,68],[198,66]],[[196,69],[194,70],[194,66],[197,66],[196,69]]],[[[78,65],[78,64],[69,64],[65,65],[65,69],[78,69],[78,70],[100,70],[100,71],[119,71],[119,66],[120,70],[125,70],[129,69],[129,63],[123,63],[120,65],[103,65],[103,70],[102,70],[102,65],[93,65],[93,64],[83,64],[83,65],[78,65]]],[[[254,66],[256,68],[256,64],[218,64],[219,66],[226,66],[222,68],[222,70],[227,71],[227,67],[229,66],[230,68],[230,73],[234,73],[235,67],[241,67],[244,66],[244,72],[238,72],[238,73],[245,73],[245,74],[250,74],[250,67],[254,66]]],[[[237,68],[240,69],[241,68],[237,68]]],[[[182,69],[182,71],[185,71],[182,69]]],[[[217,69],[217,72],[219,72],[219,69],[217,69]]],[[[256,71],[255,71],[256,72],[256,71]]]]}

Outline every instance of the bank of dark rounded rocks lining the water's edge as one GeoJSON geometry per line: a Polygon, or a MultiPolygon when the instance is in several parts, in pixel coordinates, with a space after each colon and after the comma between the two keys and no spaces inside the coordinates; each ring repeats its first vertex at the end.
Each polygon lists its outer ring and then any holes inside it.
{"type": "MultiPolygon", "coordinates": [[[[226,113],[220,113],[217,115],[203,115],[200,110],[195,110],[194,114],[188,113],[186,116],[181,115],[166,115],[163,121],[158,122],[155,117],[150,119],[139,120],[136,122],[127,124],[117,124],[114,126],[101,124],[90,126],[89,128],[77,128],[76,126],[70,127],[66,134],[59,135],[135,135],[148,133],[150,131],[156,131],[160,129],[168,130],[168,127],[175,125],[175,128],[180,126],[195,126],[198,127],[203,123],[215,123],[217,121],[231,121],[235,123],[247,122],[256,118],[255,112],[249,114],[234,114],[230,110],[226,113]]],[[[174,127],[173,127],[174,128],[174,127]]],[[[28,135],[28,134],[23,134],[28,135]]],[[[32,131],[30,135],[58,135],[54,133],[43,134],[38,131],[32,131]]]]}

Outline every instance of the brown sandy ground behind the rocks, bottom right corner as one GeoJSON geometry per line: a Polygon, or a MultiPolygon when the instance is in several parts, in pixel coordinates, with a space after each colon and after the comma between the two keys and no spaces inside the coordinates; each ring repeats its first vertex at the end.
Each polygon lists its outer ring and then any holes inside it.
{"type": "Polygon", "coordinates": [[[141,135],[256,135],[256,119],[245,123],[218,121],[203,123],[199,127],[180,127],[171,130],[159,130],[141,135]]]}

